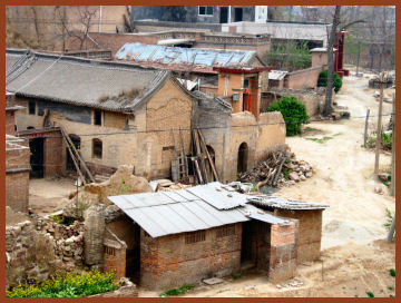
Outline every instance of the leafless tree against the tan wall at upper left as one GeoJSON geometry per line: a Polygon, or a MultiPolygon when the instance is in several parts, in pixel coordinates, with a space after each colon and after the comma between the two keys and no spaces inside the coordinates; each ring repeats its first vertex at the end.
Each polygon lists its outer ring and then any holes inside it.
{"type": "Polygon", "coordinates": [[[84,48],[85,41],[88,39],[88,33],[96,20],[94,20],[98,12],[98,7],[79,6],[75,7],[77,18],[77,26],[75,27],[71,21],[68,20],[65,8],[59,10],[59,20],[62,30],[62,37],[68,37],[79,40],[79,49],[84,48]]]}

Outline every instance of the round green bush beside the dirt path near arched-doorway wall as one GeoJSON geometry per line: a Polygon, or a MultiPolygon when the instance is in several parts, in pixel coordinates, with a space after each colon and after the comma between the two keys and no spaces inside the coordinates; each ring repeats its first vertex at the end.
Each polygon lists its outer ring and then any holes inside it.
{"type": "Polygon", "coordinates": [[[309,119],[305,106],[290,96],[273,102],[267,111],[280,111],[283,115],[287,136],[301,134],[301,124],[307,124],[309,119]]]}

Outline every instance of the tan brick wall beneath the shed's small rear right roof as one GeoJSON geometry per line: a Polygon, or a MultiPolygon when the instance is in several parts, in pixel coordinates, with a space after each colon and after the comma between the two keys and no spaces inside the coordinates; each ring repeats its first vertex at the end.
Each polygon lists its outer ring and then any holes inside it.
{"type": "Polygon", "coordinates": [[[313,261],[321,255],[322,241],[322,209],[285,211],[275,209],[274,215],[291,217],[300,221],[297,262],[313,261]]]}

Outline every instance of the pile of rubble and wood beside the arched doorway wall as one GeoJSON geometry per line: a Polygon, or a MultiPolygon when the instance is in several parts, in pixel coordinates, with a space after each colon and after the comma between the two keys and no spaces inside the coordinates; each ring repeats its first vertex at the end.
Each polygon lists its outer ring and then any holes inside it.
{"type": "Polygon", "coordinates": [[[267,155],[267,159],[258,166],[242,173],[238,180],[256,183],[256,190],[264,185],[270,187],[290,186],[313,176],[312,166],[296,159],[290,150],[276,150],[267,155]]]}

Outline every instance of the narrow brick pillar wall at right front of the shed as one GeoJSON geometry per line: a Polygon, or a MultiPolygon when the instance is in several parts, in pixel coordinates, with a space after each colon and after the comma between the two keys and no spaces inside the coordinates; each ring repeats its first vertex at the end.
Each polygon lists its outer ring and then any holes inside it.
{"type": "Polygon", "coordinates": [[[272,225],[271,255],[268,280],[272,283],[285,281],[295,276],[296,244],[295,224],[280,226],[272,225]]]}

